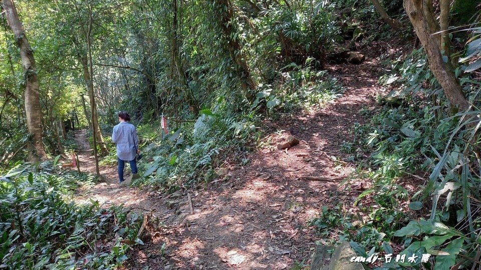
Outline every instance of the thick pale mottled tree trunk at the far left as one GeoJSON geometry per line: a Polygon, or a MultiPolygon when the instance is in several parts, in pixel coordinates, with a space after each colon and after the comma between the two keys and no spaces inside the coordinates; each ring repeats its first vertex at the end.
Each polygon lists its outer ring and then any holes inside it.
{"type": "Polygon", "coordinates": [[[34,53],[25,35],[13,0],[2,0],[2,5],[10,28],[14,32],[17,46],[20,49],[22,66],[25,73],[25,110],[27,127],[29,133],[32,135],[29,140],[29,159],[32,162],[39,162],[47,159],[47,153],[45,152],[42,141],[42,110],[40,107],[39,81],[34,53]]]}

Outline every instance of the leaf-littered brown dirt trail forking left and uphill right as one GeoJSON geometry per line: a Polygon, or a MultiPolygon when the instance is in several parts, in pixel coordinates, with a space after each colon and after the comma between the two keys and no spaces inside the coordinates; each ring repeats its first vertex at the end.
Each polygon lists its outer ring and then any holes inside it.
{"type": "MultiPolygon", "coordinates": [[[[119,187],[115,167],[102,168],[106,182],[78,200],[92,197],[106,204],[141,207],[152,210],[163,222],[133,255],[131,268],[289,269],[295,263],[310,263],[314,241],[320,239],[309,228],[310,218],[323,205],[352,205],[359,193],[341,190],[338,182],[301,177],[339,179],[352,171],[350,164],[331,156],[340,156],[340,145],[349,141],[348,130],[354,123],[368,121],[361,109],[376,107],[374,96],[380,91],[376,70],[381,70],[378,51],[366,55],[362,65],[329,66],[329,73],[345,86],[342,97],[317,111],[263,123],[269,146],[252,153],[249,165],[227,168],[229,179],[189,190],[193,214],[186,192],[161,195],[119,187]],[[277,143],[289,135],[301,143],[277,150],[277,143]]],[[[85,134],[78,133],[78,140],[85,141],[85,134]]],[[[79,156],[83,171],[95,171],[90,155],[84,148],[79,156]]],[[[332,232],[331,236],[337,235],[332,232]]]]}

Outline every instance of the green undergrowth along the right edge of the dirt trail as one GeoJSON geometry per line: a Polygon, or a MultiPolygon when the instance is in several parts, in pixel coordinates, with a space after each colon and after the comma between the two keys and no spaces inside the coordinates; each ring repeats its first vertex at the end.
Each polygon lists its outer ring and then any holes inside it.
{"type": "MultiPolygon", "coordinates": [[[[323,210],[312,225],[321,234],[337,230],[365,257],[396,250],[406,256],[436,255],[424,265],[421,260],[370,264],[377,269],[422,269],[431,263],[434,269],[456,263],[470,267],[481,244],[479,164],[477,142],[472,142],[478,127],[470,119],[479,111],[449,109],[422,49],[385,63],[391,72],[380,83],[392,91],[378,97],[383,108],[371,112],[369,124],[354,125],[355,139],[341,147],[352,154],[347,159],[359,161],[357,177],[373,180],[354,203],[363,214],[336,206],[323,210]],[[364,153],[371,153],[367,160],[364,153]]],[[[481,83],[464,68],[455,72],[476,105],[481,83]]]]}

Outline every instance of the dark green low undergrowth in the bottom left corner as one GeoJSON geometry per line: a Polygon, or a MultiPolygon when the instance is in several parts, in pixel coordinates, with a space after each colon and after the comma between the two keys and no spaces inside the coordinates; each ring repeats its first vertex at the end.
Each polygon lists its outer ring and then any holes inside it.
{"type": "MultiPolygon", "coordinates": [[[[58,158],[56,159],[58,160],[58,158]]],[[[61,172],[46,161],[17,164],[0,177],[0,268],[111,269],[128,257],[142,216],[96,201],[78,205],[72,196],[88,186],[87,174],[61,172]],[[130,245],[128,244],[130,243],[130,245]]]]}

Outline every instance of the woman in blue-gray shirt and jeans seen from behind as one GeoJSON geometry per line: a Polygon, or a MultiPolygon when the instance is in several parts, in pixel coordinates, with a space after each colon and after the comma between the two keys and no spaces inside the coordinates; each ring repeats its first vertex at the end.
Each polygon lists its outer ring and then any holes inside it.
{"type": "Polygon", "coordinates": [[[139,138],[137,137],[137,130],[131,123],[130,116],[125,111],[119,112],[119,123],[114,126],[112,132],[112,141],[117,144],[117,160],[119,162],[119,183],[124,181],[124,167],[125,161],[129,161],[130,169],[132,170],[132,178],[137,178],[137,161],[136,154],[139,151],[139,138]]]}

